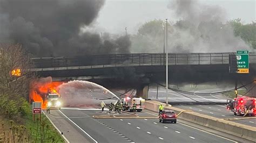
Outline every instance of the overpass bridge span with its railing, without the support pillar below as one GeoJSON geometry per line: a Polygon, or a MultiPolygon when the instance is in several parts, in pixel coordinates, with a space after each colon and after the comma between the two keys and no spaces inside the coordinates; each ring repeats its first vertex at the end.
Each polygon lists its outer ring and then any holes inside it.
{"type": "MultiPolygon", "coordinates": [[[[228,55],[235,53],[190,53],[169,54],[170,73],[189,70],[190,72],[214,71],[228,73],[228,55]]],[[[42,76],[107,76],[118,74],[113,69],[134,68],[135,73],[149,74],[165,71],[166,57],[163,53],[109,54],[80,57],[32,58],[36,71],[42,76]],[[116,72],[116,73],[115,73],[116,72]]],[[[250,53],[250,72],[254,73],[256,53],[250,53]]],[[[187,72],[186,72],[187,73],[187,72]]]]}

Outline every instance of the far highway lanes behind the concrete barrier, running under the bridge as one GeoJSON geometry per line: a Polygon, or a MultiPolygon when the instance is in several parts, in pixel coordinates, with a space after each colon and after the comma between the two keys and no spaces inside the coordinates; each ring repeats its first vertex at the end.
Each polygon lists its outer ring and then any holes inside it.
{"type": "MultiPolygon", "coordinates": [[[[174,107],[184,109],[184,110],[192,110],[194,112],[198,112],[204,115],[221,118],[221,119],[241,119],[245,117],[234,116],[234,113],[231,110],[226,109],[226,99],[230,99],[223,95],[215,95],[215,96],[198,96],[196,92],[213,92],[213,91],[223,91],[223,89],[207,89],[195,91],[195,95],[181,95],[177,92],[169,90],[169,103],[173,104],[174,107]],[[192,99],[191,99],[192,98],[192,99]],[[196,102],[196,101],[199,102],[196,102]],[[221,103],[220,105],[214,103],[221,103]],[[205,104],[208,103],[208,104],[205,104]],[[194,104],[194,105],[193,105],[194,104]],[[199,105],[201,104],[201,105],[199,105]]],[[[149,98],[156,99],[156,87],[151,87],[149,90],[149,98]]],[[[166,99],[166,89],[163,87],[158,88],[158,101],[165,102],[166,99]]],[[[247,116],[246,116],[247,117],[247,116]]],[[[249,116],[250,117],[250,116],[249,116]]],[[[236,123],[245,124],[249,126],[256,127],[256,119],[242,119],[242,120],[231,120],[236,123]]]]}

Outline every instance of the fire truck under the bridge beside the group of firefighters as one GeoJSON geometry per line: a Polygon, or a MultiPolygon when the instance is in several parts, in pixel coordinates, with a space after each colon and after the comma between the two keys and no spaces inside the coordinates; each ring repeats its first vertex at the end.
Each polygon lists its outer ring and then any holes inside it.
{"type": "Polygon", "coordinates": [[[143,98],[130,98],[130,97],[125,97],[122,98],[123,102],[123,110],[129,111],[129,112],[141,112],[145,108],[145,99],[143,98]],[[136,108],[135,108],[136,106],[136,108]]]}

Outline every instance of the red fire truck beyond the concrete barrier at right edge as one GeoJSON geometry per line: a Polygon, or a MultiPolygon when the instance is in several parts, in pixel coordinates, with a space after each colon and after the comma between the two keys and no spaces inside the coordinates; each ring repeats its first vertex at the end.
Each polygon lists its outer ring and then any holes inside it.
{"type": "Polygon", "coordinates": [[[244,116],[256,115],[256,98],[242,96],[238,98],[227,99],[227,110],[234,112],[234,115],[244,116]]]}

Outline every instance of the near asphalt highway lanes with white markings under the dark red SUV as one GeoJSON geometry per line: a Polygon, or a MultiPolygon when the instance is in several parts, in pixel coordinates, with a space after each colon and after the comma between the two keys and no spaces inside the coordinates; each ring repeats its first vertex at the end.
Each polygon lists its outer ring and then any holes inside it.
{"type": "Polygon", "coordinates": [[[139,117],[144,117],[142,119],[104,119],[93,116],[109,114],[96,109],[64,108],[52,110],[51,115],[48,115],[53,123],[57,123],[57,127],[60,126],[65,137],[71,138],[70,142],[79,142],[81,139],[89,142],[250,142],[218,131],[205,131],[197,127],[198,125],[195,127],[191,123],[182,123],[181,120],[177,124],[159,123],[158,119],[147,119],[157,117],[156,113],[148,111],[138,113],[139,117]],[[72,127],[63,129],[67,124],[58,124],[59,120],[66,121],[72,127]],[[71,134],[75,134],[77,138],[71,134]]]}

